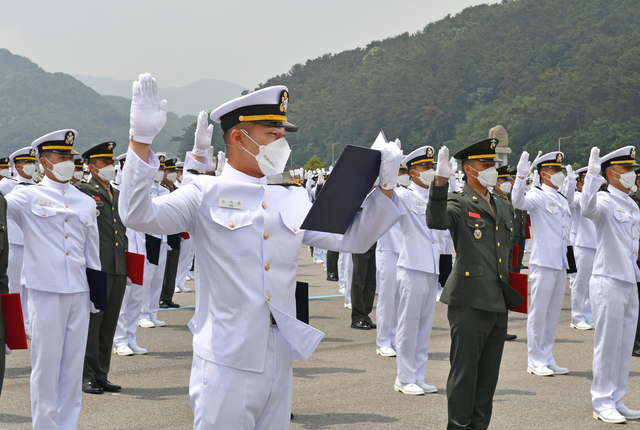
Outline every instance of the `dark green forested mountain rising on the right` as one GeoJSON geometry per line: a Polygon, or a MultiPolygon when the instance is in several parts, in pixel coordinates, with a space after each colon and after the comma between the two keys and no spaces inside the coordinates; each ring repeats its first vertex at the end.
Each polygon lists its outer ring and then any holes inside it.
{"type": "MultiPolygon", "coordinates": [[[[425,17],[428,21],[428,17],[425,17]]],[[[284,84],[293,161],[331,161],[345,144],[371,145],[383,129],[405,154],[452,150],[509,132],[521,150],[553,150],[586,163],[593,145],[640,144],[637,0],[518,0],[481,5],[416,34],[297,64],[284,84]]],[[[220,145],[220,140],[217,141],[220,145]]]]}

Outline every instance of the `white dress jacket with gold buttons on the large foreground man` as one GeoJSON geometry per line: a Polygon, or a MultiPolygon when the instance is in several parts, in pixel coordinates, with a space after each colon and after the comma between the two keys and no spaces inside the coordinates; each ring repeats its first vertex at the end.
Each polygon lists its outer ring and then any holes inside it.
{"type": "MultiPolygon", "coordinates": [[[[186,166],[185,166],[186,167],[186,166]]],[[[261,372],[270,314],[285,339],[306,359],[323,334],[295,318],[300,246],[363,253],[403,210],[379,190],[365,201],[345,235],[303,231],[311,204],[300,187],[266,185],[227,163],[219,177],[190,176],[175,192],[151,199],[158,169],[131,150],[124,170],[120,216],[151,234],[193,232],[198,298],[189,323],[194,353],[216,364],[261,372]],[[212,286],[207,280],[215,280],[212,286]]]]}

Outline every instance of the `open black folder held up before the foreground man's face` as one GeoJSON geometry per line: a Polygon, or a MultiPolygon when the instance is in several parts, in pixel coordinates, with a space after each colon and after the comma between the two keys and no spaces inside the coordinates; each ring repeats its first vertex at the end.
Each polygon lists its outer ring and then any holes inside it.
{"type": "Polygon", "coordinates": [[[380,151],[347,145],[300,226],[344,234],[378,178],[380,151]]]}

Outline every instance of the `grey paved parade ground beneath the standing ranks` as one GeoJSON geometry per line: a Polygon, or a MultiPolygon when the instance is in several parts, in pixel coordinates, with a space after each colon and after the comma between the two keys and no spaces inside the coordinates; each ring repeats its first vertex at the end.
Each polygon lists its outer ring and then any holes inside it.
{"type": "MultiPolygon", "coordinates": [[[[526,254],[525,262],[528,254],[526,254]]],[[[393,390],[395,358],[375,354],[375,331],[350,328],[350,310],[338,296],[338,283],[326,281],[322,265],[301,249],[298,280],[309,282],[311,324],[326,333],[316,352],[294,362],[291,429],[436,429],[446,428],[446,379],[449,371],[449,326],[446,306],[436,304],[426,382],[436,394],[407,396],[393,390]],[[323,297],[330,296],[330,297],[323,297]]],[[[592,418],[593,331],[569,328],[567,282],[554,355],[569,367],[566,376],[526,373],[526,316],[511,314],[500,380],[494,399],[492,429],[599,429],[612,424],[592,418]]],[[[187,286],[194,288],[193,282],[187,286]]],[[[174,300],[193,306],[195,293],[174,300]]],[[[192,336],[187,323],[193,307],[159,313],[166,327],[138,329],[138,343],[148,355],[113,356],[109,379],[123,386],[119,394],[83,394],[78,429],[190,429],[189,373],[192,336]]],[[[372,313],[375,321],[375,309],[372,313]]],[[[28,351],[7,357],[0,399],[0,429],[31,428],[28,351]]],[[[629,389],[623,399],[640,409],[640,359],[633,358],[629,389]]],[[[630,426],[639,423],[631,422],[630,426]]],[[[233,429],[231,429],[233,430],[233,429]]],[[[277,430],[277,429],[276,429],[277,430]]]]}

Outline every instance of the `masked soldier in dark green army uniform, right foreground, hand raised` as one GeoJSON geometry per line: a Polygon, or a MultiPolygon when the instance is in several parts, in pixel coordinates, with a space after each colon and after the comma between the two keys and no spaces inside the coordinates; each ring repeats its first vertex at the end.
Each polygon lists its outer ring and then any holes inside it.
{"type": "Polygon", "coordinates": [[[449,230],[456,260],[440,301],[449,305],[451,370],[447,380],[453,429],[486,429],[507,334],[507,309],[523,298],[509,286],[513,215],[509,203],[491,195],[495,186],[497,139],[486,139],[454,155],[466,185],[448,193],[449,150],[438,153],[438,168],[427,204],[429,228],[449,230]]]}

